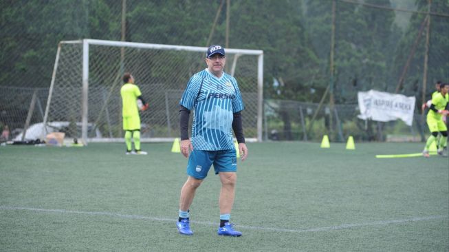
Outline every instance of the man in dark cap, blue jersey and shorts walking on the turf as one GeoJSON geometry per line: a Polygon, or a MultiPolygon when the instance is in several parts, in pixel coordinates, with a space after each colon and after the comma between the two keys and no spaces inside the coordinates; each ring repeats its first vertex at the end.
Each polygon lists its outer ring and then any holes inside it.
{"type": "Polygon", "coordinates": [[[232,140],[232,130],[239,143],[241,160],[248,156],[245,145],[241,111],[243,101],[237,81],[223,72],[226,64],[225,50],[211,45],[206,52],[208,67],[194,74],[179,102],[181,152],[187,158],[187,181],[181,189],[177,229],[184,235],[192,235],[190,229],[190,204],[195,191],[214,165],[219,174],[220,224],[218,235],[240,236],[229,222],[234,204],[237,181],[237,154],[232,140]],[[188,136],[188,118],[193,109],[192,136],[188,136]]]}

